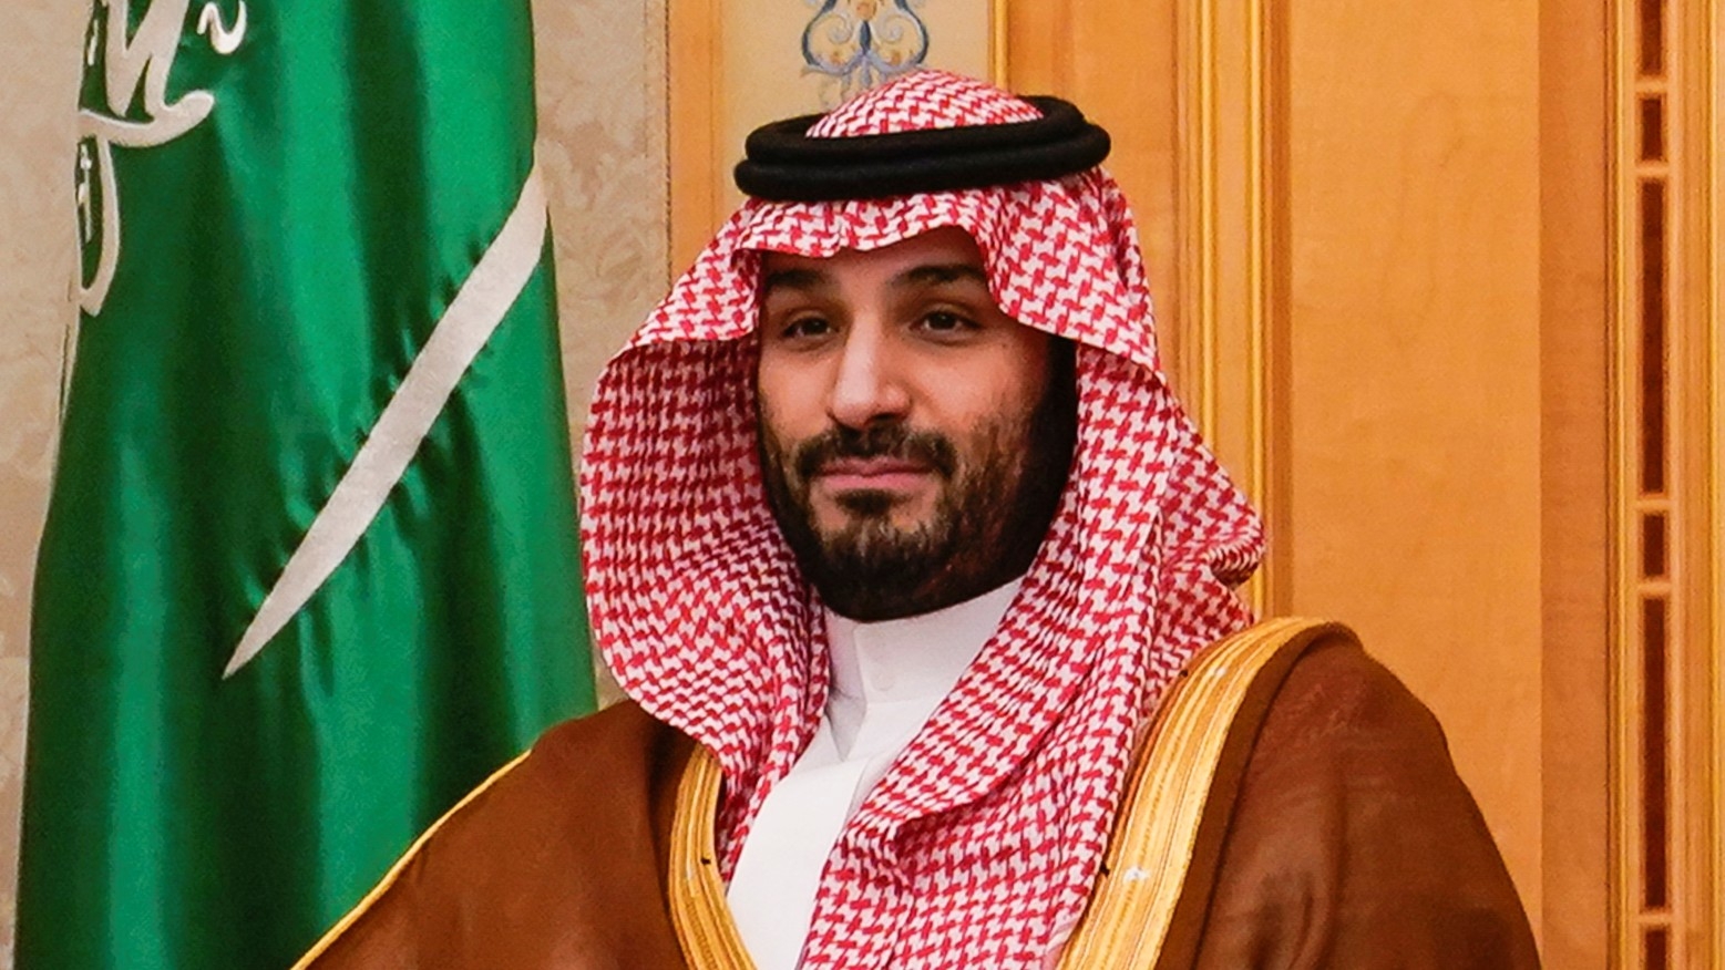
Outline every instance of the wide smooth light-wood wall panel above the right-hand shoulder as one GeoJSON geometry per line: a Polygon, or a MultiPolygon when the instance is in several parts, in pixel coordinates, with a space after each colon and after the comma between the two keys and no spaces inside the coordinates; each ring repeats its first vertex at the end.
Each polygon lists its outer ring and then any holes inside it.
{"type": "Polygon", "coordinates": [[[1290,21],[1290,603],[1444,722],[1540,923],[1539,5],[1290,21]]]}

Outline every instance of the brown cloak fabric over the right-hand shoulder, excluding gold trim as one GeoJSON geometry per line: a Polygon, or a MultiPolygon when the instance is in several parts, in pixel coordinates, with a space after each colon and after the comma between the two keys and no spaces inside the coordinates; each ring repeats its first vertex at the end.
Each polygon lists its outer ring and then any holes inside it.
{"type": "Polygon", "coordinates": [[[1249,751],[1199,967],[1537,967],[1437,717],[1351,634],[1309,643],[1249,751]],[[1390,949],[1387,949],[1390,948],[1390,949]]]}

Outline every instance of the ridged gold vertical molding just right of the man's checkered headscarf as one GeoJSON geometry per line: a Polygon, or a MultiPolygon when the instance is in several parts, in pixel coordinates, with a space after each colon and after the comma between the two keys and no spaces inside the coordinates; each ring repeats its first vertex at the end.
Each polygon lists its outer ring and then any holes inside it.
{"type": "MultiPolygon", "coordinates": [[[[1178,183],[1180,320],[1175,379],[1223,463],[1285,532],[1289,326],[1285,10],[1266,0],[1176,7],[1189,133],[1178,183]]],[[[1259,615],[1290,610],[1287,543],[1271,541],[1247,593],[1259,615]]]]}

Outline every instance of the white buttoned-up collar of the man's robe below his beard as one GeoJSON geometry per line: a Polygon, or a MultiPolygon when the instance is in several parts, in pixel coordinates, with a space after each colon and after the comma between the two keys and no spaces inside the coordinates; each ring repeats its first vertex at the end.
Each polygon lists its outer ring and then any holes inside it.
{"type": "Polygon", "coordinates": [[[831,689],[864,705],[940,700],[994,636],[1023,577],[933,613],[859,624],[826,612],[831,689]]]}

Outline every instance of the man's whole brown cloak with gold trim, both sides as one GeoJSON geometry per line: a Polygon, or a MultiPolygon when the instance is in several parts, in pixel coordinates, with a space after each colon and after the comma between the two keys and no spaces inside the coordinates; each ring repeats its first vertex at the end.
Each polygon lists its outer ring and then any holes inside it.
{"type": "MultiPolygon", "coordinates": [[[[712,853],[718,765],[623,703],[450,813],[304,970],[693,968],[749,960],[712,853]]],[[[1537,967],[1430,712],[1346,629],[1199,655],[1133,762],[1061,968],[1537,967]]]]}

